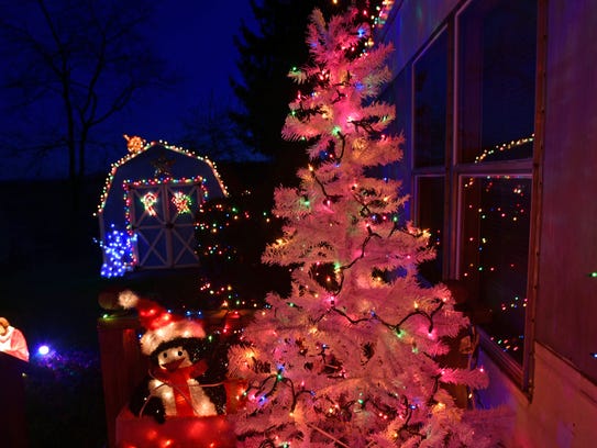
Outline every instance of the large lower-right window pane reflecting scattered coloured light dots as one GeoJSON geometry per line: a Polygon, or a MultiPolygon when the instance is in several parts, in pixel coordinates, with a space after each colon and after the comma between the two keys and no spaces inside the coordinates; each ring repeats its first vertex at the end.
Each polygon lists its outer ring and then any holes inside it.
{"type": "Polygon", "coordinates": [[[531,180],[469,178],[462,187],[461,279],[477,323],[522,363],[531,180]]]}

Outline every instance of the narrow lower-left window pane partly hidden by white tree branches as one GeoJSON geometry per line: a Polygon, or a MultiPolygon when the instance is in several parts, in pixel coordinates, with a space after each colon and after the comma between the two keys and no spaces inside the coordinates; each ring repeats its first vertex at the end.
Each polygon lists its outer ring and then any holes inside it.
{"type": "Polygon", "coordinates": [[[444,217],[444,177],[420,177],[418,187],[419,221],[417,225],[430,232],[429,244],[436,250],[436,258],[420,264],[419,272],[427,281],[434,284],[443,279],[441,242],[444,217]]]}

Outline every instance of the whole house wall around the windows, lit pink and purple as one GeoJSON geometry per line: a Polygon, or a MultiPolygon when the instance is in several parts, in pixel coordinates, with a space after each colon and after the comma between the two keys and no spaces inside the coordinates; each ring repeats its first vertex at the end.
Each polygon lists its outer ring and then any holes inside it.
{"type": "MultiPolygon", "coordinates": [[[[548,21],[534,371],[526,394],[483,355],[482,399],[510,410],[509,447],[581,448],[597,440],[597,2],[539,3],[548,21]]],[[[395,43],[399,74],[462,2],[395,4],[382,37],[395,43]]]]}

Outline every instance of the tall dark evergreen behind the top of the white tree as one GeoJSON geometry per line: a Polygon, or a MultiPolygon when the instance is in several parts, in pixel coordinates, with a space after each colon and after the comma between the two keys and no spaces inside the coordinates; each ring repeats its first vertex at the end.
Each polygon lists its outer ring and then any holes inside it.
{"type": "Polygon", "coordinates": [[[231,117],[237,126],[239,139],[251,152],[272,158],[273,170],[268,176],[272,187],[280,182],[297,183],[296,170],[307,163],[305,144],[283,139],[279,130],[288,103],[297,94],[296,85],[286,74],[308,58],[303,36],[309,14],[317,7],[328,18],[351,3],[368,11],[374,8],[369,3],[377,4],[380,0],[250,1],[257,29],[243,23],[234,38],[241,55],[236,64],[241,79],[230,82],[241,108],[231,112],[231,117]]]}

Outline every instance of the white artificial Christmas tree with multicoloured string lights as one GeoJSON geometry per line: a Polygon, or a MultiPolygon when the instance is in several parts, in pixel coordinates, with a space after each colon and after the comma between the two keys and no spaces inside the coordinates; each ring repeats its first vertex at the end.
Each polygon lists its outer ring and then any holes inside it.
{"type": "Polygon", "coordinates": [[[247,447],[487,446],[443,387],[478,389],[486,374],[439,361],[468,320],[445,287],[420,281],[434,254],[397,220],[400,182],[369,175],[400,159],[402,136],[384,133],[395,108],[377,100],[391,47],[363,45],[357,19],[316,10],[311,61],[290,74],[312,92],[290,103],[283,135],[310,142],[311,165],[276,190],[284,236],[263,255],[291,269],[291,293],[269,294],[230,350],[248,385],[236,434],[247,447]]]}

